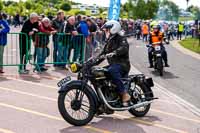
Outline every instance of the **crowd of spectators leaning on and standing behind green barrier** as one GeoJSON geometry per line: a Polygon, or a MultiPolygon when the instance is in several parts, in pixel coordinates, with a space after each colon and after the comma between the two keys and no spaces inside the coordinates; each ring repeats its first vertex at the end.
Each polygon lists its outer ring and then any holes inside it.
{"type": "MultiPolygon", "coordinates": [[[[64,68],[70,60],[72,49],[74,49],[72,61],[83,60],[82,50],[84,50],[85,41],[85,60],[90,58],[99,44],[103,43],[103,32],[100,27],[104,23],[102,18],[94,19],[81,15],[65,17],[63,11],[59,11],[52,20],[32,13],[30,18],[24,22],[21,32],[25,33],[29,40],[32,38],[35,47],[36,70],[46,71],[44,64],[49,54],[53,55],[54,67],[64,68]],[[49,53],[48,48],[50,35],[53,36],[53,53],[49,53]]],[[[20,42],[22,42],[20,44],[21,64],[24,64],[20,67],[20,73],[27,73],[25,54],[27,49],[29,51],[31,44],[27,45],[25,35],[20,36],[20,42]]]]}

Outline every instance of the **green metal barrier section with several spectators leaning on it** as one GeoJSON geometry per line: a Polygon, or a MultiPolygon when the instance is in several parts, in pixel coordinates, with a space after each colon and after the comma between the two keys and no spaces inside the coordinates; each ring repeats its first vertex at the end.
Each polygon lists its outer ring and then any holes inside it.
{"type": "Polygon", "coordinates": [[[83,35],[37,33],[32,40],[34,47],[29,51],[29,56],[32,56],[30,64],[34,65],[35,70],[39,72],[44,64],[65,67],[72,62],[84,62],[85,37],[83,35]]]}

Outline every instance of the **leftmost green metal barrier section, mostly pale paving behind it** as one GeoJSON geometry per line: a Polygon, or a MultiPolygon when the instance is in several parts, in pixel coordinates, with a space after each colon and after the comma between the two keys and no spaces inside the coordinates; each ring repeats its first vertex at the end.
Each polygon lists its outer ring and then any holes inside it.
{"type": "Polygon", "coordinates": [[[25,66],[24,62],[28,61],[28,36],[25,33],[8,33],[7,45],[4,47],[3,64],[0,66],[18,66],[19,70],[25,66]],[[23,52],[22,52],[23,48],[23,52]],[[22,61],[24,54],[24,62],[22,61]]]}

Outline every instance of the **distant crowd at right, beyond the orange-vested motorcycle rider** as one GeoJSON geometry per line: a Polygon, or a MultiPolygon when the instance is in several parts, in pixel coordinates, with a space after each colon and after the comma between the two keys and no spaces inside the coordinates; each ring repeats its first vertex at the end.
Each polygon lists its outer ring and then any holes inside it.
{"type": "Polygon", "coordinates": [[[153,20],[122,20],[124,26],[123,29],[128,33],[130,31],[135,33],[135,37],[147,41],[148,34],[152,31],[154,25],[160,25],[161,31],[165,34],[165,37],[168,40],[174,40],[175,37],[177,40],[181,40],[182,36],[192,36],[197,37],[199,33],[199,24],[184,23],[184,22],[167,22],[167,21],[153,21],[153,20]]]}

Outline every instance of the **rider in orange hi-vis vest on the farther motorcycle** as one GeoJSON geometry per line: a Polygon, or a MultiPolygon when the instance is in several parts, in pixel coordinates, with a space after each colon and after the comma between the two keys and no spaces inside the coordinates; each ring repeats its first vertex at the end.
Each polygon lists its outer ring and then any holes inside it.
{"type": "Polygon", "coordinates": [[[153,43],[158,43],[156,45],[160,45],[161,46],[161,54],[162,54],[162,58],[165,62],[165,67],[169,67],[168,65],[168,60],[167,60],[167,52],[165,50],[165,47],[163,45],[163,38],[164,38],[164,34],[160,31],[160,26],[159,25],[155,25],[153,26],[153,32],[150,33],[149,36],[149,45],[151,45],[152,47],[148,48],[148,57],[149,57],[149,68],[153,68],[153,54],[152,52],[154,51],[154,44],[153,43]]]}

